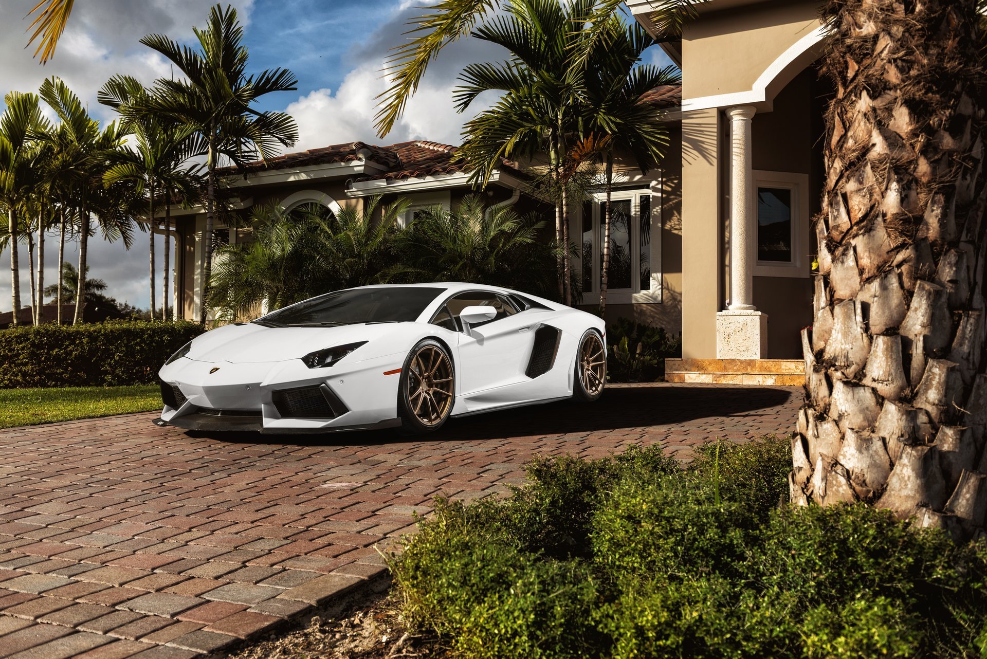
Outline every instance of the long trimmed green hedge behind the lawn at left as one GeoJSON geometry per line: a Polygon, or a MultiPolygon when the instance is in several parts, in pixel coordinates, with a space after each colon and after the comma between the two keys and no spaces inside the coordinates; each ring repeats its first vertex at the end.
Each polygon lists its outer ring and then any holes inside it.
{"type": "Polygon", "coordinates": [[[150,385],[202,333],[196,323],[113,321],[0,330],[0,389],[150,385]]]}

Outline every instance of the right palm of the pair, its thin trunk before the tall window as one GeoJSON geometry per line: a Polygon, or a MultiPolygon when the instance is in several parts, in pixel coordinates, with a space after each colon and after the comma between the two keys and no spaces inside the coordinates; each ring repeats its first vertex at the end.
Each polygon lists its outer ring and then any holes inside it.
{"type": "MultiPolygon", "coordinates": [[[[606,312],[610,272],[610,196],[613,191],[614,153],[629,154],[642,174],[656,167],[668,146],[668,131],[661,110],[645,101],[656,87],[678,85],[674,67],[639,65],[642,53],[655,41],[638,23],[628,26],[617,15],[600,18],[591,34],[602,34],[607,47],[600,49],[586,67],[582,108],[586,130],[598,135],[596,143],[604,161],[603,267],[600,273],[600,315],[606,312]]],[[[587,37],[592,38],[592,37],[587,37]]]]}

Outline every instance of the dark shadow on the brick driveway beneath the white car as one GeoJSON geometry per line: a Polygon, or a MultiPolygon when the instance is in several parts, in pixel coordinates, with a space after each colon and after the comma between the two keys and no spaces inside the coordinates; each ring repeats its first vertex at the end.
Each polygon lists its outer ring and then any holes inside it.
{"type": "MultiPolygon", "coordinates": [[[[638,386],[608,389],[596,403],[563,401],[452,418],[438,431],[414,437],[395,430],[325,435],[260,435],[246,432],[189,432],[226,442],[249,444],[376,445],[405,441],[469,441],[518,436],[586,434],[621,428],[675,425],[716,417],[757,415],[789,403],[791,389],[770,387],[638,386]]],[[[791,425],[796,416],[793,413],[791,425]]]]}

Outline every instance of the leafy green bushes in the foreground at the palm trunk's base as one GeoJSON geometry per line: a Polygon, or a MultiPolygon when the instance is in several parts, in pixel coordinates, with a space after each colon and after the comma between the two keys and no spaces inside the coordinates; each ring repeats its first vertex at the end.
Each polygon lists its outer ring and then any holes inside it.
{"type": "Polygon", "coordinates": [[[392,561],[413,627],[462,656],[981,656],[987,543],[786,502],[787,438],[540,460],[439,501],[392,561]]]}

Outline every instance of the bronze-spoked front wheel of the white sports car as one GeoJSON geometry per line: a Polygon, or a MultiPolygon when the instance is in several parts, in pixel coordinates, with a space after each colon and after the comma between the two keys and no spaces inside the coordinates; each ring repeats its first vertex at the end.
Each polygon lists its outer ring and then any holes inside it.
{"type": "Polygon", "coordinates": [[[456,374],[452,358],[438,341],[418,342],[401,369],[398,413],[402,430],[437,430],[449,418],[455,401],[456,374]]]}

